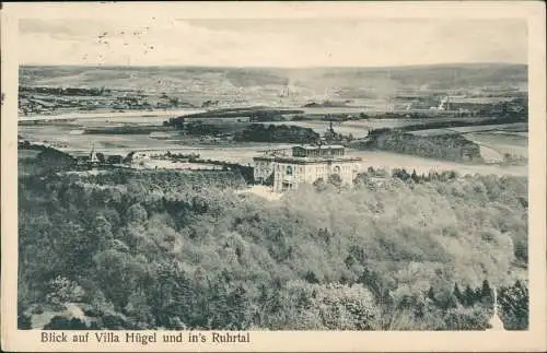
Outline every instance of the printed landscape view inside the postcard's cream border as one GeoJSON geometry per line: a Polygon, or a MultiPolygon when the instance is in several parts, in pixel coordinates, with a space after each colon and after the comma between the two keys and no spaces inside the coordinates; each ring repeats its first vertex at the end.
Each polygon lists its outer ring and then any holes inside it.
{"type": "Polygon", "coordinates": [[[16,26],[18,330],[529,330],[526,19],[16,26]]]}

